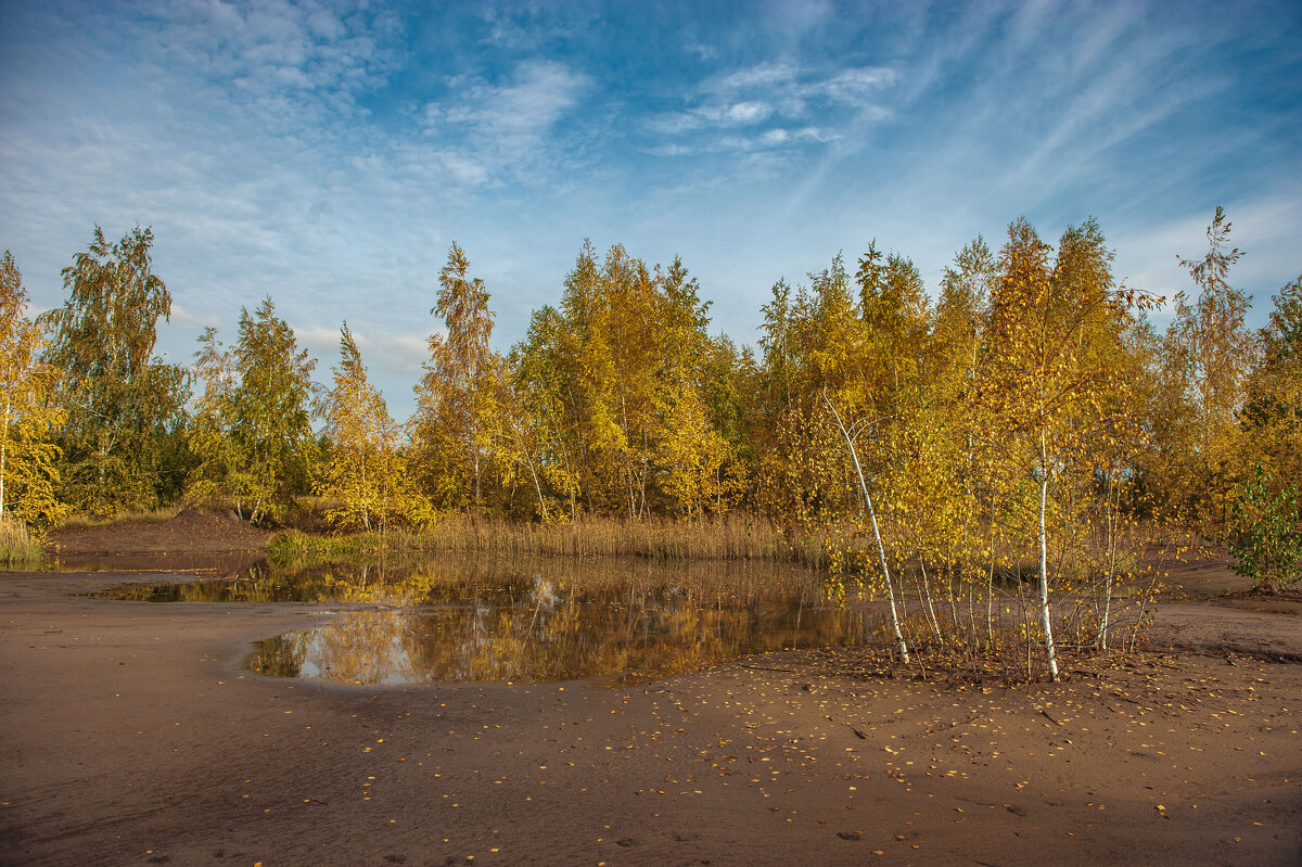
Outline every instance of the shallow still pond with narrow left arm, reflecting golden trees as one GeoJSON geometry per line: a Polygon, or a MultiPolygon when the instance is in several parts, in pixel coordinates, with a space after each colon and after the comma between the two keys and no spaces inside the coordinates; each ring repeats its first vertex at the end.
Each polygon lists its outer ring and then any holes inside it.
{"type": "Polygon", "coordinates": [[[142,601],[312,603],[327,624],[259,642],[249,668],[346,683],[600,678],[628,683],[753,654],[871,640],[785,566],[544,558],[253,568],[238,578],[95,594],[142,601]]]}

